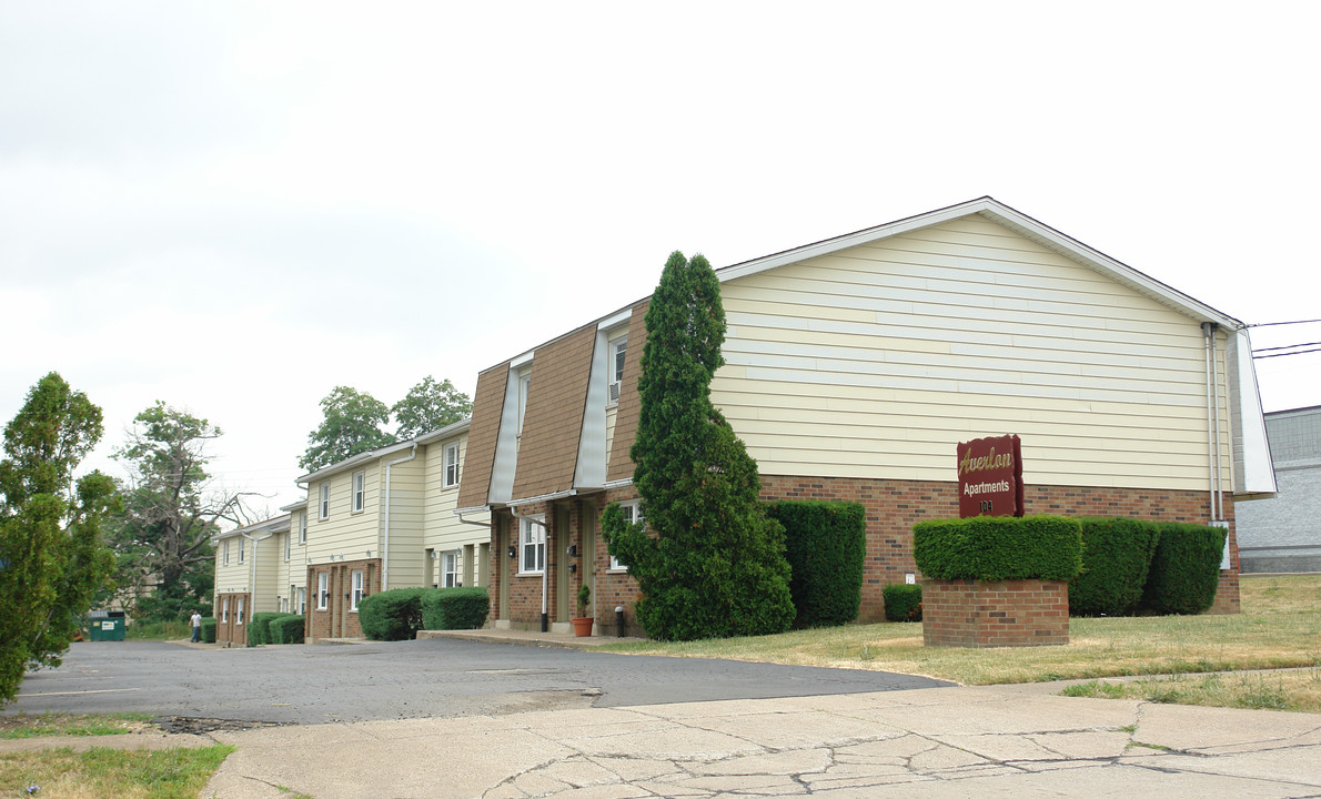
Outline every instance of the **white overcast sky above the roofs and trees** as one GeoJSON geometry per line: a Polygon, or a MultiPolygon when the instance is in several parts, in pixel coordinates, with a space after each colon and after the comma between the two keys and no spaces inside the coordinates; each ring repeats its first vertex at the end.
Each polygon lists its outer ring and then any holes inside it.
{"type": "MultiPolygon", "coordinates": [[[[165,400],[273,510],[334,386],[472,394],[672,250],[985,194],[1244,322],[1317,318],[1318,9],[0,0],[0,423],[57,370],[123,475],[165,400]]],[[[1321,404],[1321,353],[1258,376],[1321,404]]]]}

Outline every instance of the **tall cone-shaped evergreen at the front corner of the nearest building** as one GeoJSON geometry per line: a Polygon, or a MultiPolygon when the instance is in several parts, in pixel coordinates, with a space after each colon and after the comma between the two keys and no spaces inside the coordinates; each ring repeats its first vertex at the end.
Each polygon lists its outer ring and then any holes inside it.
{"type": "Polygon", "coordinates": [[[758,501],[757,462],[711,404],[725,314],[705,258],[670,256],[646,326],[630,456],[655,536],[625,524],[618,506],[602,515],[610,553],[642,589],[638,621],[662,641],[782,633],[794,619],[783,527],[758,501]]]}

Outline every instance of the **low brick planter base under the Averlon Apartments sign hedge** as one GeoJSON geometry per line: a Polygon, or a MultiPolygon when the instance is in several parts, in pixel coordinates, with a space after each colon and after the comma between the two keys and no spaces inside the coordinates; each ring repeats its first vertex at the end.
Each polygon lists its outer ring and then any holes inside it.
{"type": "Polygon", "coordinates": [[[1069,643],[1063,580],[923,580],[926,646],[1058,646],[1069,643]]]}

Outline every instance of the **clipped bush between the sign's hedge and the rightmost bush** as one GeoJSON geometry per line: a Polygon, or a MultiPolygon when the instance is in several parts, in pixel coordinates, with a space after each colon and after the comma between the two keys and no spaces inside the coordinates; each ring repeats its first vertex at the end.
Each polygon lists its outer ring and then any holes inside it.
{"type": "Polygon", "coordinates": [[[1143,598],[1160,530],[1155,522],[1082,518],[1082,572],[1069,581],[1070,615],[1124,615],[1143,598]]]}

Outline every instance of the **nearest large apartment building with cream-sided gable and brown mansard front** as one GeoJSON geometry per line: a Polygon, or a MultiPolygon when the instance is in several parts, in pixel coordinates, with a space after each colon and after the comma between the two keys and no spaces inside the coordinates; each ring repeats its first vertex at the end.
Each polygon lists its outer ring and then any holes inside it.
{"type": "MultiPolygon", "coordinates": [[[[1022,438],[1028,512],[1227,527],[1217,609],[1236,609],[1235,501],[1275,491],[1238,320],[991,198],[717,276],[712,400],[765,498],[865,506],[863,621],[915,572],[913,524],[958,515],[955,444],[1000,433],[1022,438]]],[[[635,626],[598,515],[643,512],[629,448],[646,309],[478,376],[457,514],[490,514],[497,626],[567,629],[583,584],[598,630],[616,606],[635,626]]]]}

